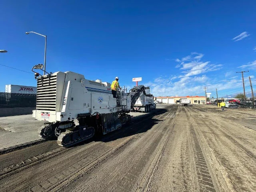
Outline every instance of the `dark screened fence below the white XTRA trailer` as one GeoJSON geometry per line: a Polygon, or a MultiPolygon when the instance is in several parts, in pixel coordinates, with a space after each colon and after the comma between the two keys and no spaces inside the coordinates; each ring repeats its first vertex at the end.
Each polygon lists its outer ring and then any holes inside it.
{"type": "Polygon", "coordinates": [[[36,107],[36,94],[0,92],[0,108],[36,107]]]}

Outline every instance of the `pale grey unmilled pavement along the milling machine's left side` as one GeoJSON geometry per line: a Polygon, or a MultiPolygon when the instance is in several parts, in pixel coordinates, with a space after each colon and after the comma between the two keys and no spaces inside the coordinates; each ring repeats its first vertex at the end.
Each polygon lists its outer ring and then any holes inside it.
{"type": "MultiPolygon", "coordinates": [[[[159,104],[157,108],[163,108],[164,105],[159,104]]],[[[130,112],[133,116],[141,118],[147,113],[130,112]]],[[[75,120],[77,124],[77,121],[75,120]]],[[[38,129],[44,125],[44,121],[38,121],[32,118],[32,114],[0,117],[0,150],[12,146],[33,142],[39,140],[38,129]]]]}

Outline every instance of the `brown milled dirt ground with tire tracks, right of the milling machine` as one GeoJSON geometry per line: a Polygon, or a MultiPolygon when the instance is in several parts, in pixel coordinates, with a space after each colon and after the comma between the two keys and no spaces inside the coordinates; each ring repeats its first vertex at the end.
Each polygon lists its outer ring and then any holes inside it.
{"type": "Polygon", "coordinates": [[[256,110],[159,106],[72,148],[0,155],[0,191],[256,191],[256,110]]]}

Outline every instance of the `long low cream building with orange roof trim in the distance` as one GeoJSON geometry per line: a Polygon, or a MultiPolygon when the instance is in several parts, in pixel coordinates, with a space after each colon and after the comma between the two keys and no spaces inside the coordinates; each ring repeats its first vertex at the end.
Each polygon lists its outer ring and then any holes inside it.
{"type": "Polygon", "coordinates": [[[206,96],[155,97],[155,100],[162,103],[179,104],[181,98],[189,99],[191,104],[206,104],[206,96]]]}

